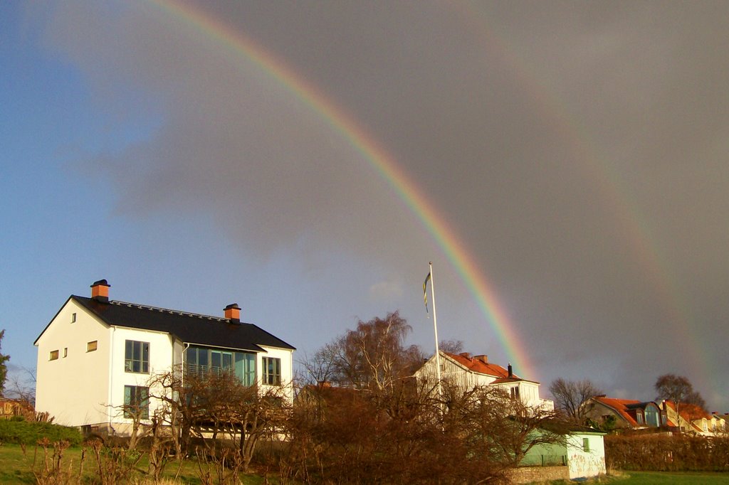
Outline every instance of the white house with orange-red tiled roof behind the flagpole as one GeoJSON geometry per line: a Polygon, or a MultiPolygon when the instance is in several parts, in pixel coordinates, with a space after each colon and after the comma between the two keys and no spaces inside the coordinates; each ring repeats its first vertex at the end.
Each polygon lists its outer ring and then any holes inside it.
{"type": "MultiPolygon", "coordinates": [[[[435,380],[437,363],[435,355],[426,360],[414,374],[419,379],[435,380]]],[[[477,386],[494,386],[503,389],[512,398],[519,399],[525,406],[553,411],[554,401],[539,398],[539,382],[522,379],[513,373],[511,364],[507,368],[488,362],[488,356],[471,356],[467,352],[452,354],[440,351],[441,379],[457,385],[467,392],[477,386]]]]}

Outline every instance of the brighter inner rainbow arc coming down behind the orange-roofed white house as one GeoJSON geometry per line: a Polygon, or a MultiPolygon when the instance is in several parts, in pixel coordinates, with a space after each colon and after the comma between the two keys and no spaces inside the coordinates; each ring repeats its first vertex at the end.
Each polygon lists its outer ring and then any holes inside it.
{"type": "MultiPolygon", "coordinates": [[[[521,369],[524,374],[534,375],[534,369],[527,352],[522,348],[514,324],[496,299],[494,288],[488,283],[486,277],[477,271],[478,266],[465,245],[456,237],[456,233],[448,226],[445,218],[438,213],[434,205],[426,199],[421,189],[397,165],[394,158],[354,118],[335,106],[316,87],[281,60],[242,33],[233,31],[219,20],[189,5],[171,0],[149,0],[149,2],[196,31],[204,33],[208,38],[214,39],[235,55],[252,61],[273,79],[276,79],[286,90],[292,92],[312,111],[319,114],[330,127],[351,143],[351,146],[362,154],[432,235],[474,296],[478,307],[488,318],[491,328],[496,332],[499,342],[515,367],[521,369]]],[[[424,265],[424,270],[425,268],[424,265]]]]}

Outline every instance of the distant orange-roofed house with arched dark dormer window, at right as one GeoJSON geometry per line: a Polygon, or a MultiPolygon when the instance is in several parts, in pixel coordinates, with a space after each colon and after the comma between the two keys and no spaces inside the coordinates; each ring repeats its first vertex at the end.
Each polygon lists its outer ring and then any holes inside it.
{"type": "Polygon", "coordinates": [[[589,417],[595,422],[606,422],[615,419],[615,427],[645,429],[666,426],[666,412],[653,401],[636,401],[633,399],[608,398],[598,395],[590,398],[589,417]]]}

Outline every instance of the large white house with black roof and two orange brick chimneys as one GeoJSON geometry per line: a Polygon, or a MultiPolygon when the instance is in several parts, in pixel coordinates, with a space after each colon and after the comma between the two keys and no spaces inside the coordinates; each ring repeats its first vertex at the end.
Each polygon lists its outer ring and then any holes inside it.
{"type": "Polygon", "coordinates": [[[233,371],[246,385],[276,386],[292,399],[295,347],[240,320],[238,304],[222,317],[109,299],[109,284],[91,297],[71,295],[43,329],[36,368],[36,411],[61,425],[125,434],[120,409],[149,398],[154,374],[233,371]]]}

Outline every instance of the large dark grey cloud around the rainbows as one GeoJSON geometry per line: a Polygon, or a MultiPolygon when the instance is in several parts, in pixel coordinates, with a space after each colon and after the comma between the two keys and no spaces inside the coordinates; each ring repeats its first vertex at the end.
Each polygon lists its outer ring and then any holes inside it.
{"type": "MultiPolygon", "coordinates": [[[[675,371],[729,406],[727,4],[195,8],[284,60],[397,159],[488,275],[542,379],[593,375],[652,398],[675,371]]],[[[158,126],[91,157],[121,213],[205,213],[262,257],[337,251],[399,268],[375,295],[421,279],[434,243],[413,214],[260,66],[153,7],[63,4],[47,39],[115,115],[110,130],[140,112],[158,126]]],[[[454,305],[468,304],[444,273],[454,305]]]]}

